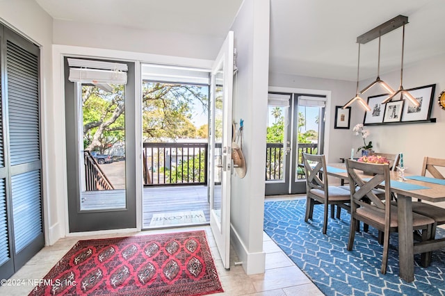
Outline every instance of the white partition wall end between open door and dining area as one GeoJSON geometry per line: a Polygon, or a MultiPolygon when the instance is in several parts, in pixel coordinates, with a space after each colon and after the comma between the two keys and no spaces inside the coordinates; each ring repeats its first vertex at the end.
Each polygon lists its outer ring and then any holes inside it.
{"type": "Polygon", "coordinates": [[[232,178],[232,245],[247,274],[264,272],[269,6],[269,0],[245,0],[232,26],[238,53],[233,120],[238,128],[244,120],[242,148],[247,166],[243,179],[232,178]]]}

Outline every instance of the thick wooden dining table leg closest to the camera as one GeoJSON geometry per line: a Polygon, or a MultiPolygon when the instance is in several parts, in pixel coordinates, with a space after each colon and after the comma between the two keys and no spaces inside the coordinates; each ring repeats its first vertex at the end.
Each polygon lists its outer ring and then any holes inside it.
{"type": "Polygon", "coordinates": [[[414,235],[412,231],[411,197],[398,195],[398,265],[399,277],[414,281],[414,235]]]}

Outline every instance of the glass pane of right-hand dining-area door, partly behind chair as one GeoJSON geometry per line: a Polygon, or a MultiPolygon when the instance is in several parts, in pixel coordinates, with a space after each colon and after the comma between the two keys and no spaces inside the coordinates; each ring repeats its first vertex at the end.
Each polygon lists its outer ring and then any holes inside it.
{"type": "Polygon", "coordinates": [[[318,131],[320,131],[320,106],[298,106],[298,149],[295,181],[305,179],[302,154],[318,154],[318,131]]]}

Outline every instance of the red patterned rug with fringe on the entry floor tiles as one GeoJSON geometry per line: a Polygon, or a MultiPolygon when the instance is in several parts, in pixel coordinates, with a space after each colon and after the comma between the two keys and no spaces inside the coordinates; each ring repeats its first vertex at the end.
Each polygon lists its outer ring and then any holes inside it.
{"type": "Polygon", "coordinates": [[[223,292],[205,231],[79,240],[29,295],[223,292]]]}

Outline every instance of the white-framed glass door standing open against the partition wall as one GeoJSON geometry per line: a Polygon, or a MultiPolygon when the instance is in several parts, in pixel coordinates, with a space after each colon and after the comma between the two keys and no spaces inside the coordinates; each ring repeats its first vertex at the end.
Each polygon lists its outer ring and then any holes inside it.
{"type": "Polygon", "coordinates": [[[209,131],[210,226],[226,269],[230,266],[233,61],[234,33],[230,31],[211,71],[209,131]]]}

